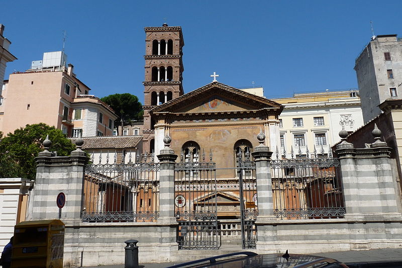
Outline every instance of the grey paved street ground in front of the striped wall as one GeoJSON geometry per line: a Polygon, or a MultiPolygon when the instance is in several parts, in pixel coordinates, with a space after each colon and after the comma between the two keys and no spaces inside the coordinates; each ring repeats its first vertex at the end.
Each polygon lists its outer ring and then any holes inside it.
{"type": "MultiPolygon", "coordinates": [[[[183,253],[185,253],[183,251],[183,253]]],[[[402,267],[402,248],[392,249],[371,249],[371,250],[360,250],[360,251],[338,251],[338,252],[328,252],[328,253],[317,253],[314,255],[325,256],[334,258],[345,263],[352,262],[376,262],[376,261],[400,261],[400,266],[402,267]]],[[[143,268],[159,268],[167,267],[177,263],[164,262],[164,263],[142,263],[140,267],[143,268]]],[[[94,268],[95,266],[92,266],[94,268]]],[[[112,265],[112,266],[99,266],[103,268],[122,268],[124,265],[112,265]]],[[[396,267],[396,266],[395,266],[396,267]]],[[[88,267],[90,268],[90,267],[88,267]]]]}

